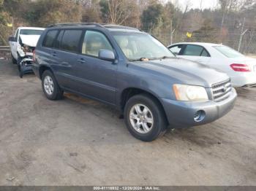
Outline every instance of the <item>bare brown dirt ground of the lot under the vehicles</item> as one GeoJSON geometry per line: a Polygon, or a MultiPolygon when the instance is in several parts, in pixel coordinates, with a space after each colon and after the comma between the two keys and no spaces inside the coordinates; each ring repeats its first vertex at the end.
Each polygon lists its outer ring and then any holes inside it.
{"type": "Polygon", "coordinates": [[[48,101],[0,61],[0,185],[256,185],[255,137],[256,88],[222,119],[146,143],[108,106],[48,101]]]}

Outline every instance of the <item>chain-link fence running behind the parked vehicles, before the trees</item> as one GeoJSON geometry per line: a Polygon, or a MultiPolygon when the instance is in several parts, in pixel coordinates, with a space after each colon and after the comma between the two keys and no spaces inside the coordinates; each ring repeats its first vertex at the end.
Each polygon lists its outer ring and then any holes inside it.
{"type": "MultiPolygon", "coordinates": [[[[70,22],[72,23],[72,22],[70,22]]],[[[13,35],[18,26],[46,27],[53,23],[43,23],[39,20],[20,21],[16,20],[12,27],[0,25],[0,46],[8,45],[8,36],[13,35]]],[[[200,31],[187,36],[187,31],[175,31],[171,35],[170,29],[159,28],[157,31],[149,31],[150,34],[159,39],[163,44],[170,45],[171,42],[211,42],[222,43],[246,55],[256,55],[256,29],[248,30],[244,34],[240,32],[200,31]],[[240,44],[240,45],[239,45],[240,44]],[[239,48],[240,47],[240,48],[239,48]]]]}

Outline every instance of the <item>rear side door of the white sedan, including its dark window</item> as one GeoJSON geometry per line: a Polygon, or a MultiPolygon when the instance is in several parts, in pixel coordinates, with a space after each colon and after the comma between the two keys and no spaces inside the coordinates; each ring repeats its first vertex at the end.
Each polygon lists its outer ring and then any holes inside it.
{"type": "Polygon", "coordinates": [[[181,52],[179,52],[179,57],[206,65],[211,60],[210,54],[204,47],[194,44],[184,45],[181,49],[181,52]]]}

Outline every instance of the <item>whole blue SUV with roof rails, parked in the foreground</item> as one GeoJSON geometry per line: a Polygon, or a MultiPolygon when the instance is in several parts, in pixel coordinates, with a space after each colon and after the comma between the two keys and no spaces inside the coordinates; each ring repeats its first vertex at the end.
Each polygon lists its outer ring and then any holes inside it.
{"type": "Polygon", "coordinates": [[[49,26],[34,61],[48,99],[65,91],[114,106],[142,141],[157,139],[168,126],[213,122],[233,108],[237,96],[227,74],[176,58],[153,36],[126,26],[49,26]]]}

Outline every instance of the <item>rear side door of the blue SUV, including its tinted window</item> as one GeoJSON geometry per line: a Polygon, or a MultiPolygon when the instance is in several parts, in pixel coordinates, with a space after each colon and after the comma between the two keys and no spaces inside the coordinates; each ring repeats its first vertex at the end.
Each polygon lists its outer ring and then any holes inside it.
{"type": "Polygon", "coordinates": [[[83,29],[59,31],[51,50],[51,66],[61,87],[79,92],[78,52],[80,51],[83,29]]]}

